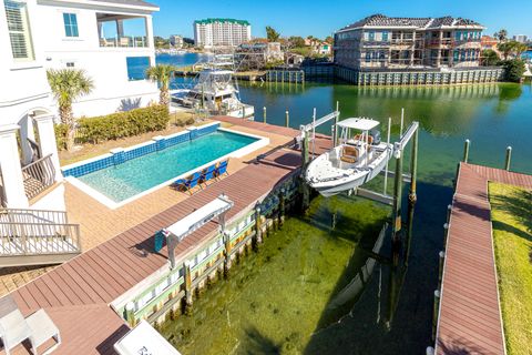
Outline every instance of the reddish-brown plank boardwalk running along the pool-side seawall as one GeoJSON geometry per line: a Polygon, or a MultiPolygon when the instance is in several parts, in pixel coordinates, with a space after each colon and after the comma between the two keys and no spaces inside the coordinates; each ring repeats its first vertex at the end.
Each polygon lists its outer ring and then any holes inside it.
{"type": "MultiPolygon", "coordinates": [[[[275,130],[275,126],[262,123],[252,125],[264,132],[275,130]]],[[[279,132],[285,136],[297,134],[290,129],[279,132]]],[[[8,296],[13,297],[24,315],[39,308],[47,311],[60,328],[63,341],[54,354],[113,354],[112,345],[127,332],[129,326],[109,306],[110,303],[167,264],[166,248],[160,253],[152,252],[155,232],[222,193],[235,202],[228,212],[227,219],[231,220],[293,174],[300,160],[298,152],[282,149],[260,162],[249,161],[229,176],[211,183],[191,197],[53,268],[8,296]]],[[[178,245],[176,258],[201,245],[217,226],[217,223],[209,222],[187,236],[178,245]]],[[[17,353],[28,354],[28,349],[19,346],[17,353]]]]}

